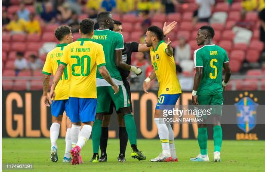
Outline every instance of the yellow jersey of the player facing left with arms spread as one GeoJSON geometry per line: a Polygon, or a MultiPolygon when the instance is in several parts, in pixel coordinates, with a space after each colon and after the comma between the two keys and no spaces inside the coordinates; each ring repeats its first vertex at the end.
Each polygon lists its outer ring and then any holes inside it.
{"type": "Polygon", "coordinates": [[[181,93],[174,57],[166,54],[166,48],[167,44],[164,41],[160,41],[156,49],[150,48],[152,66],[159,83],[158,96],[181,93]]]}

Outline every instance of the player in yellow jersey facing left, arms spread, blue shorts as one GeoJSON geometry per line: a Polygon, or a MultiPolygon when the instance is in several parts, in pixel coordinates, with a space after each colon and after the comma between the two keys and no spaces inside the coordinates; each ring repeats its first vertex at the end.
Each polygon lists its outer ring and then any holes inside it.
{"type": "Polygon", "coordinates": [[[181,88],[176,75],[176,66],[173,57],[171,41],[163,41],[163,31],[157,26],[150,26],[146,32],[145,42],[150,48],[150,57],[153,66],[153,72],[143,83],[143,89],[146,93],[149,82],[157,77],[159,83],[158,102],[155,110],[154,121],[158,128],[158,135],[162,144],[163,152],[151,162],[177,162],[174,133],[170,124],[166,124],[160,118],[161,105],[175,105],[180,94],[181,88]]]}

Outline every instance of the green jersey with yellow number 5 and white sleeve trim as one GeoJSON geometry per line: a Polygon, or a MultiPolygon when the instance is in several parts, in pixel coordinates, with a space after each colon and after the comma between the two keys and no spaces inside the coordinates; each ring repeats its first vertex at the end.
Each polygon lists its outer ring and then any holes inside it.
{"type": "Polygon", "coordinates": [[[205,45],[194,51],[195,67],[203,67],[197,95],[213,95],[223,91],[223,64],[229,62],[226,51],[217,45],[205,45]]]}

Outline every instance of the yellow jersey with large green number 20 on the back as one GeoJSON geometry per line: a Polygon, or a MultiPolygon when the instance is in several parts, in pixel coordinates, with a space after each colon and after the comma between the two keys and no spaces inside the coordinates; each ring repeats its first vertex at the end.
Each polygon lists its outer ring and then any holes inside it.
{"type": "Polygon", "coordinates": [[[65,47],[60,63],[70,67],[69,97],[97,98],[97,67],[106,65],[101,44],[89,38],[79,38],[65,47]]]}

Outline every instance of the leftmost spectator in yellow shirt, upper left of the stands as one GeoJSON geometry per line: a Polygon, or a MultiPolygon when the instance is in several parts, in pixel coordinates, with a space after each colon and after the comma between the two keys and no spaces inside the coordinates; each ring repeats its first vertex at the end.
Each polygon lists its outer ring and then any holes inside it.
{"type": "Polygon", "coordinates": [[[25,23],[24,19],[19,19],[18,14],[14,13],[13,20],[5,27],[11,34],[24,33],[25,31],[25,23]]]}

